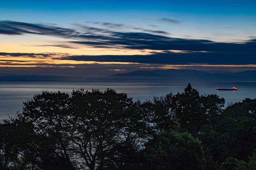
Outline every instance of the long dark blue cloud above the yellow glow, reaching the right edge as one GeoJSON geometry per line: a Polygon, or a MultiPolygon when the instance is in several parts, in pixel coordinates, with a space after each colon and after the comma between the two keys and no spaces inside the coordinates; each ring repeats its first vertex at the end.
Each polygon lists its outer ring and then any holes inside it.
{"type": "Polygon", "coordinates": [[[182,50],[182,51],[208,51],[228,53],[252,53],[255,40],[238,43],[219,43],[202,39],[181,39],[140,32],[113,32],[111,36],[98,41],[72,41],[94,47],[120,47],[138,50],[182,50]],[[253,46],[253,47],[252,47],[253,46]]]}

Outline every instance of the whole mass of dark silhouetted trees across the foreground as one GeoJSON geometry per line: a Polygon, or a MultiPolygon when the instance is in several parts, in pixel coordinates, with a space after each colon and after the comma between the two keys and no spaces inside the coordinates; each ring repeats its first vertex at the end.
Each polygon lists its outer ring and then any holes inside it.
{"type": "Polygon", "coordinates": [[[256,99],[224,104],[191,84],[146,102],[44,91],[0,124],[0,169],[256,169],[256,99]]]}

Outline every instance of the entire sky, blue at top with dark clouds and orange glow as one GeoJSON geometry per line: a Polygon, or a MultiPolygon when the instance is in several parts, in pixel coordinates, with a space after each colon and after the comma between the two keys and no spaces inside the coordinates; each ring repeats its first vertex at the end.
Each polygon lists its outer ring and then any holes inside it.
{"type": "Polygon", "coordinates": [[[256,1],[8,0],[0,40],[0,78],[255,70],[256,1]]]}

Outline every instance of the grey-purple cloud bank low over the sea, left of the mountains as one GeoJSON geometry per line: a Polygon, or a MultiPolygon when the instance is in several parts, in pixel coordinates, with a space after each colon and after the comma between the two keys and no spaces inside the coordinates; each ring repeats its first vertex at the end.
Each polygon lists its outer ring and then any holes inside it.
{"type": "MultiPolygon", "coordinates": [[[[5,73],[5,78],[0,76],[1,80],[33,80],[31,77],[26,77],[26,75],[58,75],[56,79],[73,79],[73,80],[82,80],[82,79],[99,79],[108,75],[116,74],[115,69],[126,70],[126,71],[134,71],[141,70],[138,67],[138,64],[48,64],[48,63],[1,63],[5,66],[13,66],[19,65],[20,67],[0,67],[0,75],[1,73],[5,73]],[[30,66],[41,66],[41,67],[21,67],[23,65],[30,66]],[[45,67],[46,66],[46,67],[45,67]],[[49,67],[47,67],[49,66],[49,67]],[[69,67],[73,66],[73,67],[69,67]],[[75,67],[74,67],[75,66],[75,67]],[[15,78],[11,77],[12,75],[16,75],[15,78]]],[[[140,64],[140,66],[144,66],[140,64]]],[[[47,78],[45,76],[44,79],[53,79],[47,78]]],[[[39,76],[35,76],[36,79],[41,80],[42,78],[39,76]]]]}

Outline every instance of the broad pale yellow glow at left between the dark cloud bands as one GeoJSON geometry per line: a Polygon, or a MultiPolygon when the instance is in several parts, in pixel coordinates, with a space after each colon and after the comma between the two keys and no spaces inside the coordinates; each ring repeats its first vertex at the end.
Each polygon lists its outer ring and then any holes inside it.
{"type": "MultiPolygon", "coordinates": [[[[0,52],[7,53],[67,53],[70,55],[150,55],[151,52],[163,52],[163,50],[137,50],[137,49],[125,49],[125,48],[97,48],[92,46],[86,46],[83,44],[70,44],[63,43],[67,39],[40,36],[40,35],[22,35],[22,36],[8,36],[1,35],[0,38],[5,41],[0,42],[0,52]],[[42,45],[43,44],[43,45],[42,45]],[[58,46],[61,44],[66,47],[58,46]]],[[[71,39],[70,39],[71,40],[71,39]]],[[[174,53],[188,53],[188,51],[182,50],[165,50],[174,53]]],[[[203,51],[202,51],[203,52],[203,51]]]]}

